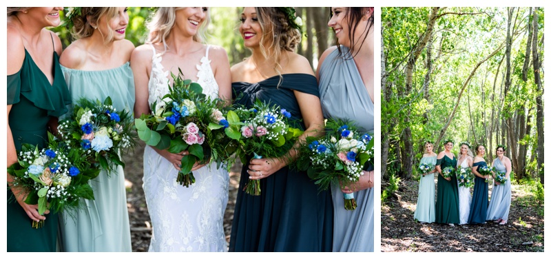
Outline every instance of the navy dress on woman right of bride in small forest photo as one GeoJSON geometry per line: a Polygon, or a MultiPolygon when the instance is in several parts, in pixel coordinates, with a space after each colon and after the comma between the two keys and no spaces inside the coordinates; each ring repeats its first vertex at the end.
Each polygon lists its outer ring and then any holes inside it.
{"type": "MultiPolygon", "coordinates": [[[[472,167],[485,166],[486,161],[473,163],[472,167]]],[[[486,165],[487,166],[487,165],[486,165]]],[[[486,179],[475,176],[475,190],[472,191],[472,202],[470,203],[469,224],[483,224],[488,214],[488,183],[486,179]]]]}

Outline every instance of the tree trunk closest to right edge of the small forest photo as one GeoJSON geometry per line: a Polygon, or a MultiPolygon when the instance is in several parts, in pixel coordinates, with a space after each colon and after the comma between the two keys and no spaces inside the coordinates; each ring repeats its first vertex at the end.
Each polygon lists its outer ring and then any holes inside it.
{"type": "MultiPolygon", "coordinates": [[[[538,92],[541,91],[543,95],[543,89],[541,86],[541,79],[539,77],[539,53],[537,48],[538,41],[538,11],[539,8],[534,8],[534,17],[532,20],[532,29],[534,30],[532,35],[532,64],[534,65],[534,83],[538,87],[538,92]]],[[[541,95],[536,97],[536,126],[538,132],[538,172],[540,176],[541,184],[544,183],[543,177],[543,101],[541,101],[541,95]]]]}

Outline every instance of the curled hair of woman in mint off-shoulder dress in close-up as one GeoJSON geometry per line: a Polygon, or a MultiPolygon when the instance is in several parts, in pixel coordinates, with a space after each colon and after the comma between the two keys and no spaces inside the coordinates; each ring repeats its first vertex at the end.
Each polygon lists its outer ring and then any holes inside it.
{"type": "MultiPolygon", "coordinates": [[[[94,28],[92,25],[98,26],[98,21],[101,17],[106,17],[106,22],[109,23],[118,14],[118,7],[83,7],[81,15],[72,17],[73,28],[72,36],[75,39],[82,39],[92,36],[94,28]]],[[[107,26],[107,35],[103,35],[100,30],[98,32],[103,37],[103,43],[107,44],[113,41],[114,32],[110,26],[107,26]]]]}

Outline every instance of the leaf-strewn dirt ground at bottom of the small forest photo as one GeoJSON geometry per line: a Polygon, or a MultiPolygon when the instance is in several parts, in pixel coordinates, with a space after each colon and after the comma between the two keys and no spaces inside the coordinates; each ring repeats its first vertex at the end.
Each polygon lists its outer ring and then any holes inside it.
{"type": "Polygon", "coordinates": [[[506,225],[487,222],[455,227],[414,220],[417,186],[417,181],[401,182],[396,195],[382,206],[381,251],[543,252],[543,213],[540,215],[533,203],[526,202],[526,194],[519,185],[512,186],[506,225]]]}

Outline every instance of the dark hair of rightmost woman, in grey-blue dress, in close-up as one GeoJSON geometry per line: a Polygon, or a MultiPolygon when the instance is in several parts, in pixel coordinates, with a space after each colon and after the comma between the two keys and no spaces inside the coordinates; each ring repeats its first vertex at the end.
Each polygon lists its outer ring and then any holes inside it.
{"type": "MultiPolygon", "coordinates": [[[[371,31],[373,33],[373,22],[375,21],[375,17],[373,14],[373,11],[375,8],[373,7],[347,7],[346,12],[344,14],[344,18],[346,19],[346,22],[349,24],[349,39],[350,39],[350,48],[348,52],[344,53],[343,50],[340,48],[339,39],[335,39],[337,49],[339,50],[339,56],[342,57],[342,59],[353,59],[354,56],[357,54],[356,51],[356,35],[354,34],[357,26],[360,24],[360,21],[362,21],[362,17],[366,15],[367,10],[370,10],[371,8],[371,16],[368,17],[368,23],[366,25],[366,28],[364,28],[365,36],[363,39],[357,39],[358,42],[360,42],[359,48],[357,50],[360,50],[362,46],[364,45],[367,35],[371,31]],[[354,54],[355,53],[355,54],[354,54]]],[[[333,16],[333,12],[330,12],[329,19],[333,16]]],[[[362,33],[363,33],[362,32],[362,33]]],[[[358,35],[360,36],[360,35],[358,35]]]]}

